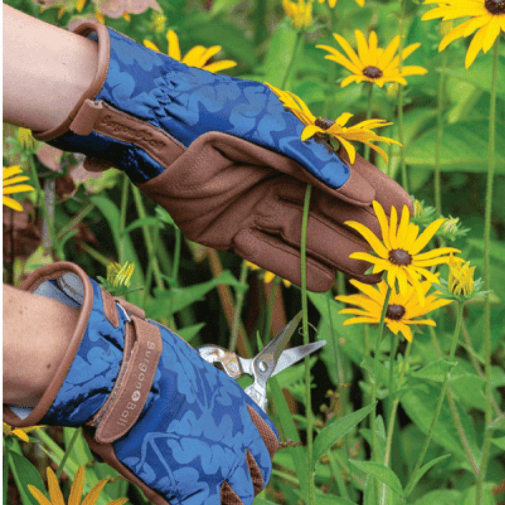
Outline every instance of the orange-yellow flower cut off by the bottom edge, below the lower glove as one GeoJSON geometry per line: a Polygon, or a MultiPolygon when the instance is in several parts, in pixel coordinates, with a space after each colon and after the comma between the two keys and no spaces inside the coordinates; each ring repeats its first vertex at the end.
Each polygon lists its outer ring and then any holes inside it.
{"type": "MultiPolygon", "coordinates": [[[[40,503],[40,505],[65,505],[65,500],[63,498],[63,493],[58,484],[58,479],[51,468],[47,467],[47,489],[49,491],[49,499],[47,499],[42,491],[40,491],[35,486],[28,484],[28,490],[33,495],[33,497],[40,503]]],[[[109,479],[102,479],[98,484],[96,484],[91,491],[84,497],[82,505],[95,505],[96,500],[102,489],[107,484],[109,479]]],[[[75,473],[74,482],[72,482],[72,487],[70,488],[70,494],[68,497],[68,505],[80,505],[82,497],[82,489],[84,484],[84,467],[80,466],[75,473]]],[[[126,503],[128,498],[116,498],[110,501],[107,505],[123,505],[126,503]]]]}

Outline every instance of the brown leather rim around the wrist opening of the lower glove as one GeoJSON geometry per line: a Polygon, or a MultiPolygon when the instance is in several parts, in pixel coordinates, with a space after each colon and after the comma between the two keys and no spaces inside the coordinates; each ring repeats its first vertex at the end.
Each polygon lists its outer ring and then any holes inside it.
{"type": "Polygon", "coordinates": [[[33,408],[31,413],[25,419],[20,419],[11,411],[9,406],[3,406],[4,421],[12,426],[23,427],[39,424],[49,408],[53,405],[58,391],[62,387],[63,382],[65,381],[65,377],[67,376],[68,371],[70,370],[70,367],[74,361],[75,355],[77,354],[77,349],[79,348],[82,337],[86,330],[89,316],[91,314],[91,308],[93,306],[93,289],[91,287],[91,282],[89,281],[89,278],[84,270],[82,270],[74,263],[60,262],[41,267],[33,272],[20,286],[20,289],[31,292],[34,291],[35,288],[43,281],[54,280],[63,274],[68,273],[77,275],[84,287],[84,299],[80,308],[79,317],[77,319],[77,325],[75,327],[68,348],[65,352],[65,356],[63,357],[63,360],[55,371],[55,374],[51,379],[51,382],[49,382],[47,389],[44,391],[42,397],[38,401],[37,405],[33,408]]]}

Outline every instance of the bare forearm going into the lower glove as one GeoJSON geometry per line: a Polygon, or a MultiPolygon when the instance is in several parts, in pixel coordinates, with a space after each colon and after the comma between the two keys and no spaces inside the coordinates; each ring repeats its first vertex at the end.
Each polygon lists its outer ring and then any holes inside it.
{"type": "Polygon", "coordinates": [[[4,403],[33,407],[62,360],[79,311],[4,284],[4,403]]]}

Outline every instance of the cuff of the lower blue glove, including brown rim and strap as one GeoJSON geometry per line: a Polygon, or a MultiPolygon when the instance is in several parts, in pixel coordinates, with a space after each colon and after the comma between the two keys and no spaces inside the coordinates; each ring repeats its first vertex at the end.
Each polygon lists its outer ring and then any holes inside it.
{"type": "Polygon", "coordinates": [[[21,289],[75,303],[80,313],[64,359],[37,405],[24,419],[4,405],[4,421],[13,426],[86,423],[95,428],[96,441],[103,443],[125,435],[153,385],[163,348],[158,326],[147,322],[138,307],[100,288],[73,263],[42,267],[21,289]],[[99,359],[97,347],[103,351],[99,359]]]}

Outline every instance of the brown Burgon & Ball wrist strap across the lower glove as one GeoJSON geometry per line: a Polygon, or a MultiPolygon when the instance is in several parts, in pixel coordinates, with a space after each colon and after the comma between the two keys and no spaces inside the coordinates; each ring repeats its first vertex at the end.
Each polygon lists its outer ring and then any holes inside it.
{"type": "Polygon", "coordinates": [[[126,323],[124,358],[118,378],[104,406],[88,423],[96,427],[97,442],[114,442],[137,422],[153,385],[162,349],[160,329],[131,316],[131,322],[126,323]]]}

